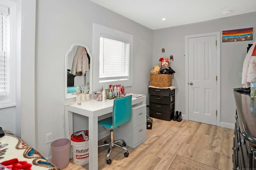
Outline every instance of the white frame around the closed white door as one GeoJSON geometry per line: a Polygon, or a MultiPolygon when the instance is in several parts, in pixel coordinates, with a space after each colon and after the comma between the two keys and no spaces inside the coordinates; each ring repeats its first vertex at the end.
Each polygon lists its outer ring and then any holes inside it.
{"type": "MultiPolygon", "coordinates": [[[[220,32],[212,32],[212,33],[202,33],[195,35],[186,35],[185,36],[185,94],[188,94],[188,39],[196,38],[196,37],[206,37],[216,35],[217,45],[216,45],[216,71],[217,71],[217,87],[216,87],[216,109],[217,109],[217,119],[216,126],[220,126],[220,32]]],[[[185,96],[185,117],[184,119],[188,120],[188,96],[185,96]]]]}

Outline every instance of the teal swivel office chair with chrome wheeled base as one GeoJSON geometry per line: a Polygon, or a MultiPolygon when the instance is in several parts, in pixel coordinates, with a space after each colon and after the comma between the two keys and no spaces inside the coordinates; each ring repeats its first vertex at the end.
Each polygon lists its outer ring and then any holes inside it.
{"type": "Polygon", "coordinates": [[[129,156],[129,152],[126,149],[126,143],[123,139],[119,139],[117,141],[114,141],[114,129],[120,125],[123,125],[124,123],[130,121],[132,118],[132,96],[125,96],[122,98],[116,98],[114,99],[114,106],[112,110],[112,117],[108,117],[106,119],[98,121],[98,125],[107,129],[110,129],[110,141],[106,140],[104,141],[103,145],[100,145],[98,147],[109,145],[108,153],[107,153],[107,164],[111,164],[111,159],[109,158],[110,152],[112,147],[118,146],[122,149],[126,150],[124,153],[125,157],[129,156]],[[119,145],[118,142],[123,141],[122,145],[119,145]]]}

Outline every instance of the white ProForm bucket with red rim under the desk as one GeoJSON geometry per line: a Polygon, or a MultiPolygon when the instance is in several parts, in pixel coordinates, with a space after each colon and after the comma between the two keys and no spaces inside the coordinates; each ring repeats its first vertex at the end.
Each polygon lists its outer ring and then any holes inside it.
{"type": "Polygon", "coordinates": [[[71,150],[73,152],[73,162],[76,165],[84,165],[89,163],[89,140],[84,139],[84,135],[88,137],[88,131],[78,131],[71,135],[71,150]],[[80,135],[79,135],[80,134],[80,135]]]}

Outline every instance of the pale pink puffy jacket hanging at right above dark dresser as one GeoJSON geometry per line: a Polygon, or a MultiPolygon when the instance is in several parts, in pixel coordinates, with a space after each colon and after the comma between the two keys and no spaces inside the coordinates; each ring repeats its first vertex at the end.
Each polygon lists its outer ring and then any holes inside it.
{"type": "Polygon", "coordinates": [[[242,85],[244,88],[250,87],[250,82],[252,78],[256,77],[256,56],[252,56],[255,45],[256,41],[250,47],[244,59],[242,70],[242,85]]]}

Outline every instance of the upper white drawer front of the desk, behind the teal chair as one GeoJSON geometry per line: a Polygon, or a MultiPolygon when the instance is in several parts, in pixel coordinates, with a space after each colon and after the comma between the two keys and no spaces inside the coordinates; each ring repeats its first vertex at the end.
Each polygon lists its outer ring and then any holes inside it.
{"type": "Polygon", "coordinates": [[[132,108],[132,116],[134,119],[134,127],[146,122],[146,105],[137,106],[132,108]]]}

